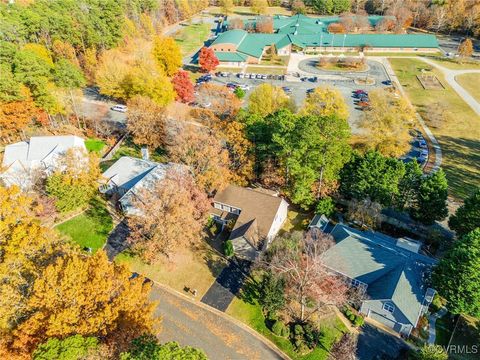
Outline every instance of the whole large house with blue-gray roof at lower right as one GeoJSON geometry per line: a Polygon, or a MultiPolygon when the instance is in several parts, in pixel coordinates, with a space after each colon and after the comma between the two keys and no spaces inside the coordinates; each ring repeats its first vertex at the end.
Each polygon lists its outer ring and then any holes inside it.
{"type": "Polygon", "coordinates": [[[428,277],[436,261],[418,251],[418,242],[337,224],[336,245],[325,253],[325,265],[366,291],[360,312],[408,336],[427,310],[435,291],[428,277]]]}

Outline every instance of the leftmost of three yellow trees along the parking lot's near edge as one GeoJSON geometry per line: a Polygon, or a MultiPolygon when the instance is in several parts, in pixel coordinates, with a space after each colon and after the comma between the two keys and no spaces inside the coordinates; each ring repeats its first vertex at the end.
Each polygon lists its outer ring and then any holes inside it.
{"type": "Polygon", "coordinates": [[[280,109],[291,109],[292,106],[290,98],[282,88],[266,83],[257,86],[248,100],[248,111],[262,117],[273,114],[280,109]]]}

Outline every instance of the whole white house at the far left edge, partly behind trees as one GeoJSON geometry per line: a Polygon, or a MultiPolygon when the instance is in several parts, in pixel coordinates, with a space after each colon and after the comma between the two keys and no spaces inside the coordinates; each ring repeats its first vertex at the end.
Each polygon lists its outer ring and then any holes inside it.
{"type": "Polygon", "coordinates": [[[39,178],[50,175],[58,160],[70,149],[85,150],[82,138],[66,136],[34,136],[5,147],[0,179],[5,185],[29,189],[39,178]]]}

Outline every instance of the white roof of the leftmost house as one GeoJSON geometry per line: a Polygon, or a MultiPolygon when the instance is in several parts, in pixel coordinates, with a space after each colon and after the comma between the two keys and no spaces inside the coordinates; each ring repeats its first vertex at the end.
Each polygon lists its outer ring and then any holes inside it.
{"type": "Polygon", "coordinates": [[[23,166],[28,167],[35,162],[47,161],[52,156],[74,147],[85,149],[84,140],[74,135],[34,136],[29,141],[7,145],[3,155],[3,166],[7,167],[20,161],[23,166]]]}

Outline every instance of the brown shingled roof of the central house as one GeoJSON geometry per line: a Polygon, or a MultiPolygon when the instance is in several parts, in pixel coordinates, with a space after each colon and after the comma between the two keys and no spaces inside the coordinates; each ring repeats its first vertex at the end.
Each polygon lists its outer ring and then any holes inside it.
{"type": "Polygon", "coordinates": [[[240,209],[230,239],[243,237],[255,247],[267,237],[278,209],[284,201],[281,197],[266,193],[262,189],[235,185],[229,185],[217,193],[213,200],[240,209]]]}

